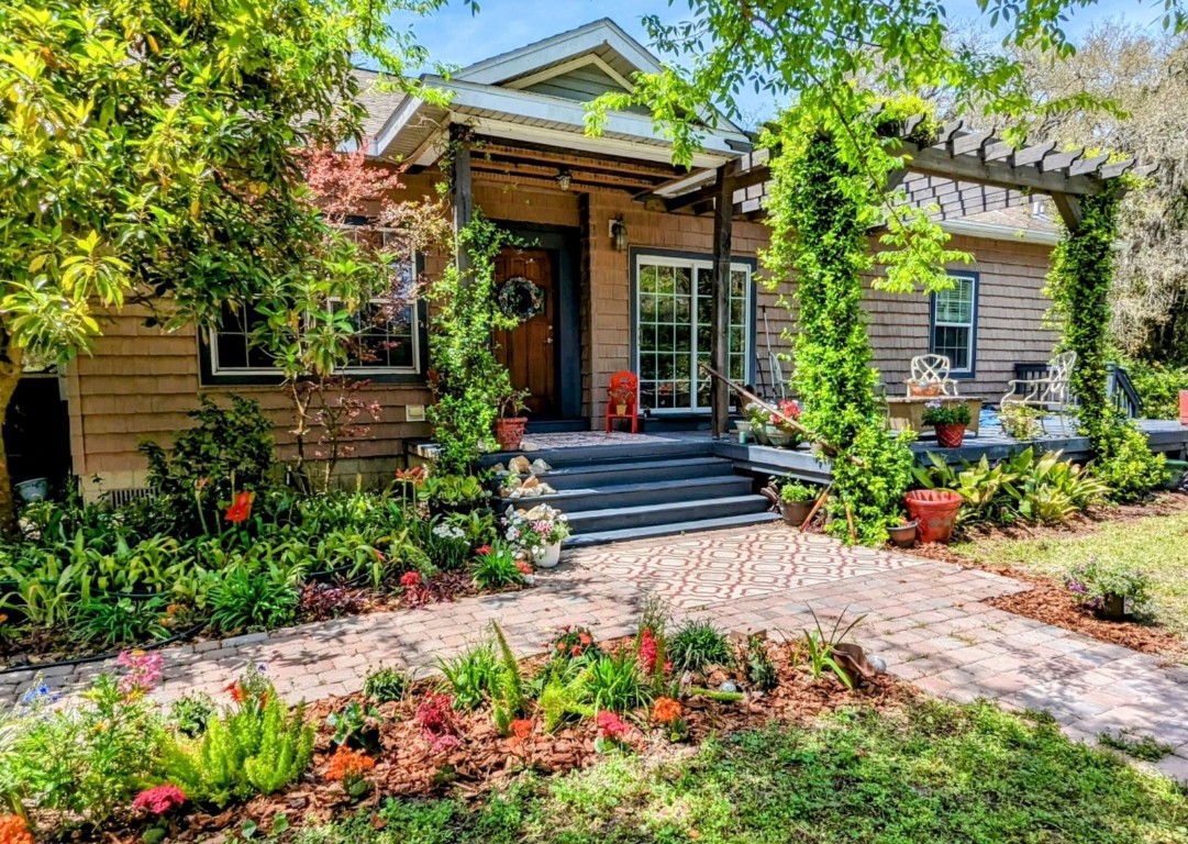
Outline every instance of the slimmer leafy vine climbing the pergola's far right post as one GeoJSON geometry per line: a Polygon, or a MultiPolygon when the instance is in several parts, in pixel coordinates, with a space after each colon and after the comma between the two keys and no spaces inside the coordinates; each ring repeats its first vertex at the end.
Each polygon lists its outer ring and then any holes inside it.
{"type": "Polygon", "coordinates": [[[1123,417],[1107,395],[1110,289],[1118,204],[1126,187],[1114,182],[1101,194],[1081,197],[1081,223],[1067,232],[1053,252],[1047,286],[1061,345],[1076,352],[1070,388],[1078,399],[1081,433],[1093,449],[1093,470],[1117,500],[1138,498],[1167,474],[1163,455],[1151,453],[1143,433],[1123,417]]]}

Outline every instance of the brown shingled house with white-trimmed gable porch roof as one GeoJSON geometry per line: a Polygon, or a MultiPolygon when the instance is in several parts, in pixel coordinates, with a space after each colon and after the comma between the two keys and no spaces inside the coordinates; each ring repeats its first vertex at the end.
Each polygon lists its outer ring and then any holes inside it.
{"type": "MultiPolygon", "coordinates": [[[[513,379],[531,391],[537,430],[599,428],[611,374],[640,377],[642,407],[652,426],[703,426],[709,385],[697,373],[710,341],[709,291],[714,221],[704,216],[713,175],[747,157],[752,137],[720,121],[703,131],[691,169],[671,164],[670,144],[640,113],[612,114],[602,137],[584,132],[586,103],[607,90],[627,90],[637,71],[657,59],[611,20],[599,20],[462,69],[430,84],[451,94],[448,107],[374,87],[360,71],[368,108],[369,152],[407,165],[410,197],[431,195],[451,126],[472,143],[475,207],[531,244],[503,256],[501,279],[523,277],[544,291],[543,311],[507,336],[500,355],[513,379]]],[[[1054,222],[1034,214],[1022,193],[1007,199],[969,190],[947,199],[927,177],[912,182],[948,206],[953,246],[972,252],[954,267],[953,290],[936,297],[871,292],[867,298],[874,364],[889,392],[903,390],[909,361],[948,354],[962,391],[988,401],[1001,395],[1015,365],[1043,361],[1055,336],[1042,326],[1042,295],[1054,222]],[[961,216],[953,213],[971,213],[961,216]]],[[[731,232],[729,364],[734,379],[773,395],[791,327],[778,303],[791,292],[760,283],[758,254],[767,244],[757,199],[762,185],[734,191],[731,232]]],[[[444,260],[423,256],[432,273],[444,260]]],[[[135,308],[114,315],[91,357],[57,376],[72,470],[99,477],[107,491],[145,485],[137,451],[144,439],[168,441],[188,424],[200,393],[239,392],[260,401],[289,437],[286,401],[267,360],[248,347],[244,325],[223,325],[211,339],[195,329],[164,335],[135,308]]],[[[352,367],[372,380],[383,420],[343,466],[354,475],[386,478],[410,442],[430,435],[424,309],[409,325],[392,323],[396,351],[352,367]]],[[[45,392],[44,390],[42,392],[45,392]]],[[[50,402],[53,404],[53,402],[50,402]]],[[[48,410],[46,412],[50,412],[48,410]]],[[[65,439],[65,433],[63,433],[65,439]]],[[[20,478],[18,478],[19,480],[20,478]]],[[[88,485],[89,486],[89,485],[88,485]]]]}

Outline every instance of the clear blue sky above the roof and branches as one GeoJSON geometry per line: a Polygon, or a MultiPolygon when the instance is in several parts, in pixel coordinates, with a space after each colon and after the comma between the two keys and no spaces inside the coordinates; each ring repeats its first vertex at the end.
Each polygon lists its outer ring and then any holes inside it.
{"type": "MultiPolygon", "coordinates": [[[[658,14],[665,23],[674,23],[689,14],[682,0],[671,5],[668,0],[480,0],[480,6],[481,12],[472,15],[459,0],[453,0],[443,12],[415,24],[418,38],[429,48],[434,61],[470,64],[596,18],[612,18],[650,46],[640,25],[643,15],[658,14]]],[[[1162,2],[1156,0],[1098,0],[1093,6],[1076,11],[1066,31],[1075,38],[1094,20],[1117,15],[1125,15],[1136,24],[1158,26],[1161,6],[1162,2]]],[[[977,19],[979,15],[975,0],[949,0],[946,7],[954,18],[977,19]]],[[[411,18],[398,19],[397,23],[407,20],[411,18]]],[[[763,116],[759,112],[769,111],[759,100],[744,106],[757,116],[763,116]]]]}

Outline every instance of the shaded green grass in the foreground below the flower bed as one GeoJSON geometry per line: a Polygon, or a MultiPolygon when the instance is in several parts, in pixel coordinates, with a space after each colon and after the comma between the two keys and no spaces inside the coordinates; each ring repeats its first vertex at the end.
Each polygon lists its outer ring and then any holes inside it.
{"type": "Polygon", "coordinates": [[[307,827],[297,844],[1188,842],[1188,798],[1169,780],[990,704],[838,713],[663,763],[525,774],[476,807],[390,800],[379,814],[307,827]]]}

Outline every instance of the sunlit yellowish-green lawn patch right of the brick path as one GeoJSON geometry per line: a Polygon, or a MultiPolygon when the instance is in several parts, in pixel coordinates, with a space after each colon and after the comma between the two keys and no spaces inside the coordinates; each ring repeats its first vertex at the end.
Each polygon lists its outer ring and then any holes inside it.
{"type": "Polygon", "coordinates": [[[1080,536],[1036,540],[978,540],[953,546],[971,560],[1010,565],[1057,580],[1097,555],[1148,572],[1152,578],[1155,621],[1188,638],[1188,512],[1106,522],[1080,536]]]}

